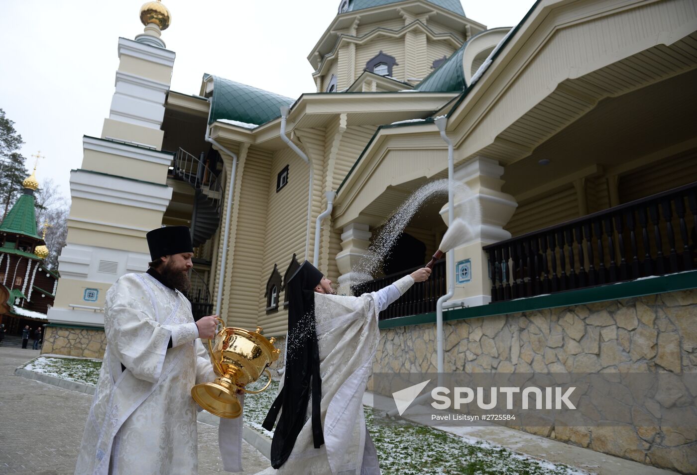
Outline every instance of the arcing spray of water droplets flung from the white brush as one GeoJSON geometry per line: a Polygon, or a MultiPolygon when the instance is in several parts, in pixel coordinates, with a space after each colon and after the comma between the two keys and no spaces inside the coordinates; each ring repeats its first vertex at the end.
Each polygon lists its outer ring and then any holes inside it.
{"type": "MultiPolygon", "coordinates": [[[[459,204],[461,217],[467,224],[478,226],[481,224],[482,212],[474,193],[470,187],[460,182],[452,182],[453,194],[459,204]]],[[[395,245],[399,235],[409,224],[416,212],[429,201],[447,198],[448,180],[443,178],[428,182],[409,196],[404,203],[381,225],[381,231],[370,244],[365,256],[353,267],[351,274],[351,286],[359,285],[374,279],[378,270],[388,256],[392,246],[395,245]]]]}

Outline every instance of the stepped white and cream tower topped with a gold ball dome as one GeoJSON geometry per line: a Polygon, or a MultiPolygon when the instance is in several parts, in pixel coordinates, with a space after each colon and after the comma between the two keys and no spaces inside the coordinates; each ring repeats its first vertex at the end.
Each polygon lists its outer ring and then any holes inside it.
{"type": "Polygon", "coordinates": [[[171,15],[149,1],[140,19],[142,34],[118,39],[116,90],[102,134],[82,138],[82,166],[70,173],[68,239],[45,334],[45,348],[56,354],[101,357],[105,293],[121,275],[147,269],[145,235],[161,226],[171,198],[172,155],[161,151],[161,127],[175,55],[160,38],[171,15]]]}

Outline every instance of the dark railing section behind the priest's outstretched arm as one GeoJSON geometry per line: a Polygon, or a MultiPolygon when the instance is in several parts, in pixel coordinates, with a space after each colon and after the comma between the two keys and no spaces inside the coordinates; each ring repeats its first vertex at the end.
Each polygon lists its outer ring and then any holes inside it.
{"type": "MultiPolygon", "coordinates": [[[[423,266],[413,269],[403,270],[396,274],[390,274],[380,279],[375,279],[353,287],[353,295],[361,295],[369,292],[376,292],[385,286],[389,286],[411,274],[423,266]]],[[[380,320],[387,318],[406,317],[436,311],[438,297],[445,295],[445,259],[436,261],[431,277],[425,282],[415,283],[404,295],[396,302],[393,302],[387,309],[380,312],[380,320]]]]}

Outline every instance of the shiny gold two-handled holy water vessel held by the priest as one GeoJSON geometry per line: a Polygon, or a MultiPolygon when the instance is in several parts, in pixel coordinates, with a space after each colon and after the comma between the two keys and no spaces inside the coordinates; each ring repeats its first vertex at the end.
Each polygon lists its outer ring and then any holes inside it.
{"type": "Polygon", "coordinates": [[[211,345],[210,359],[218,377],[213,382],[197,384],[191,389],[191,397],[205,410],[216,416],[234,419],[242,414],[242,406],[237,400],[237,391],[259,394],[271,384],[268,366],[280,355],[280,350],[273,348],[276,338],[266,339],[261,335],[261,327],[256,332],[245,329],[225,327],[225,322],[217,318],[223,329],[215,336],[215,345],[211,345]],[[266,373],[268,382],[259,391],[245,389],[266,373]]]}

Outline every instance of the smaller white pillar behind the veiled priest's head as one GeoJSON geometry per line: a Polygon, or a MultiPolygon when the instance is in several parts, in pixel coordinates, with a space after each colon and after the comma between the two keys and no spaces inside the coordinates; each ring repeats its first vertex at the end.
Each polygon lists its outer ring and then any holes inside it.
{"type": "Polygon", "coordinates": [[[344,226],[342,233],[342,251],[337,254],[337,267],[339,267],[340,295],[351,295],[351,286],[358,282],[372,280],[373,277],[360,272],[362,258],[364,258],[370,246],[370,229],[367,224],[351,223],[344,226]]]}

